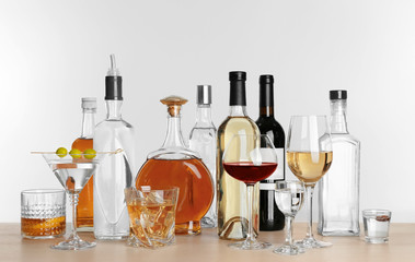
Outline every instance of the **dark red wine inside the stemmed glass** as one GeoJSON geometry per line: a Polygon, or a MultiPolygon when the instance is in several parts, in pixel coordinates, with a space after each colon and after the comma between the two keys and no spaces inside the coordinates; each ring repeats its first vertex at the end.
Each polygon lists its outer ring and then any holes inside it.
{"type": "Polygon", "coordinates": [[[252,162],[231,162],[223,163],[223,168],[231,177],[254,186],[269,177],[277,169],[277,163],[263,162],[261,165],[254,165],[252,162]]]}

